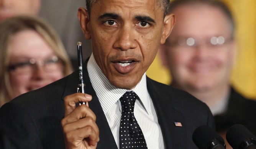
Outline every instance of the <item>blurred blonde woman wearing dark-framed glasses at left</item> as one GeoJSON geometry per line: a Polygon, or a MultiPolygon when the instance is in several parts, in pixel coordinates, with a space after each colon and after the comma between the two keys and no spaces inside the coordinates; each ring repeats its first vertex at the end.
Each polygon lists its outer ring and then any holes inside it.
{"type": "Polygon", "coordinates": [[[0,32],[0,106],[72,72],[61,39],[43,19],[8,18],[0,32]]]}

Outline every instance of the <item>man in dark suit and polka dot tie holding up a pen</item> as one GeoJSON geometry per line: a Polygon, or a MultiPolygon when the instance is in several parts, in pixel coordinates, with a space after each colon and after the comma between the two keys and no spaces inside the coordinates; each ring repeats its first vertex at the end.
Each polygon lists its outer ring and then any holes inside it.
{"type": "Polygon", "coordinates": [[[80,73],[75,71],[3,105],[0,147],[119,149],[120,121],[130,114],[123,113],[128,101],[123,94],[132,92],[133,123],[127,128],[139,128],[143,147],[196,149],[194,130],[214,127],[207,105],[145,73],[174,26],[168,7],[169,0],[88,0],[87,10],[78,11],[85,38],[92,41],[92,55],[83,67],[86,94],[76,93],[80,73]]]}

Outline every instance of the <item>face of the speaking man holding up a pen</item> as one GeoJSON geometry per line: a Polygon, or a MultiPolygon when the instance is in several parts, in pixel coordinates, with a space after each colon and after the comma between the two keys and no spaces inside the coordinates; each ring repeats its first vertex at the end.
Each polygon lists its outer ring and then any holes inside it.
{"type": "Polygon", "coordinates": [[[85,37],[92,39],[95,60],[116,87],[135,87],[171,31],[172,15],[164,19],[157,2],[98,0],[91,7],[85,37]]]}

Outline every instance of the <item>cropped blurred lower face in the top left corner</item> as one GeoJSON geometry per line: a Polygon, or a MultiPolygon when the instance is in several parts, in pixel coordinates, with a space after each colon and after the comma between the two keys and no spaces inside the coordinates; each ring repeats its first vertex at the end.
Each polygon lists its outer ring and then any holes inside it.
{"type": "Polygon", "coordinates": [[[37,15],[41,0],[0,0],[0,22],[16,15],[37,15]]]}

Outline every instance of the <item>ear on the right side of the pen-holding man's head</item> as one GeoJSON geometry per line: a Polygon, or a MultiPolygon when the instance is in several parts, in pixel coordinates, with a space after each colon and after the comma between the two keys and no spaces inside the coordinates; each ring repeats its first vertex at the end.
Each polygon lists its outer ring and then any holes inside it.
{"type": "Polygon", "coordinates": [[[161,44],[164,44],[166,38],[171,34],[172,28],[175,24],[175,16],[174,14],[169,14],[164,17],[164,24],[162,30],[161,44]]]}

